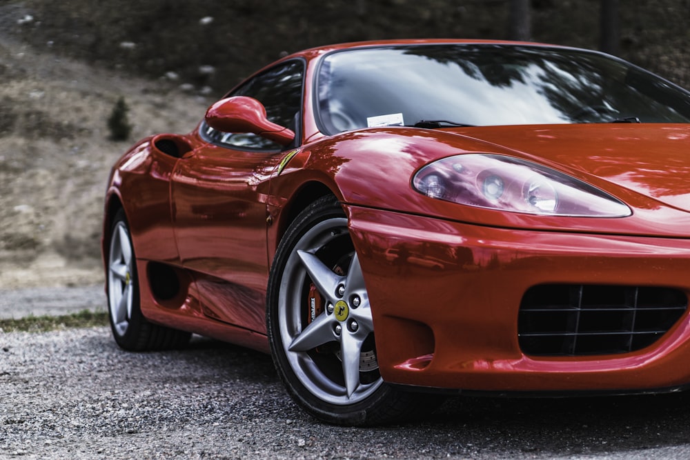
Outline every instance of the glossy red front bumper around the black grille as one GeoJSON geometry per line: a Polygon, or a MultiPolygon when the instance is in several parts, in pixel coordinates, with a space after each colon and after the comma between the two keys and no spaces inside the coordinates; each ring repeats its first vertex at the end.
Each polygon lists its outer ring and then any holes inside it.
{"type": "Polygon", "coordinates": [[[524,293],[541,284],[655,286],[690,297],[690,239],[488,228],[348,207],[384,380],[463,390],[637,391],[690,383],[686,311],[651,346],[535,357],[524,293]]]}

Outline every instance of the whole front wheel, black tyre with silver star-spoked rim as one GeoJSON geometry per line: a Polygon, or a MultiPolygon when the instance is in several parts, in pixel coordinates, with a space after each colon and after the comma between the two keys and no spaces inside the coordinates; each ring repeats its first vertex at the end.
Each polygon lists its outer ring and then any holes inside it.
{"type": "Polygon", "coordinates": [[[277,372],[317,419],[371,426],[435,408],[434,397],[398,390],[380,376],[362,270],[335,197],[315,201],[288,228],[266,302],[277,372]]]}

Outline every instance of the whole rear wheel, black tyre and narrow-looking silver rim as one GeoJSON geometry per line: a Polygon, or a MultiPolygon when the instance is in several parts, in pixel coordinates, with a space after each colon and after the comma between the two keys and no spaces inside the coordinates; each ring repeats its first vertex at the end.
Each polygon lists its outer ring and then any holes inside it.
{"type": "Polygon", "coordinates": [[[124,350],[181,348],[191,334],[150,323],[139,306],[137,263],[124,211],[115,214],[108,246],[108,317],[115,342],[124,350]]]}

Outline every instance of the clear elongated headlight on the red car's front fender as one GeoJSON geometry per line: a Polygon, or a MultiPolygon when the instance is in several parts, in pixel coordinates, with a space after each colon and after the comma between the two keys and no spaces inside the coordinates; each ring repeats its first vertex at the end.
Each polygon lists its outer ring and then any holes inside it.
{"type": "Polygon", "coordinates": [[[620,200],[568,174],[502,155],[434,161],[415,174],[412,185],[427,197],[478,208],[571,217],[632,214],[620,200]]]}

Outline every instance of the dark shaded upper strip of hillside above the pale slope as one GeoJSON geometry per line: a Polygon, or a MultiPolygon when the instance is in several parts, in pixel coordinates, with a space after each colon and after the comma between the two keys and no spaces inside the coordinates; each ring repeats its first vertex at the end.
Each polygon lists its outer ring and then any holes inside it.
{"type": "Polygon", "coordinates": [[[258,66],[312,46],[513,38],[511,3],[529,8],[526,38],[597,49],[607,1],[618,4],[617,54],[690,86],[689,0],[26,0],[15,8],[31,19],[0,26],[40,49],[153,78],[179,77],[187,88],[220,95],[258,66]]]}

